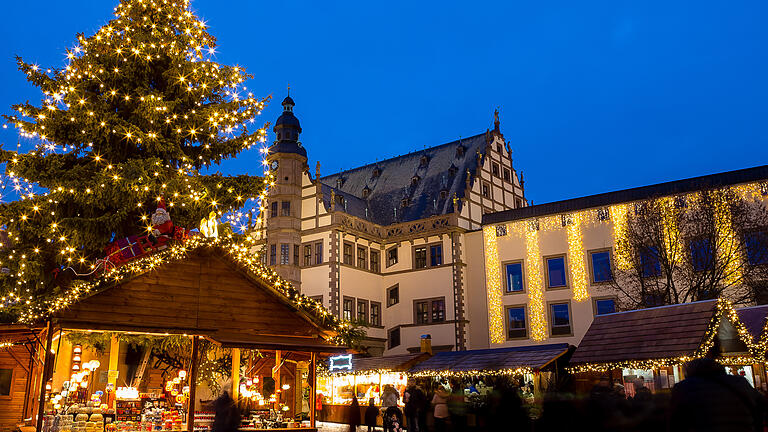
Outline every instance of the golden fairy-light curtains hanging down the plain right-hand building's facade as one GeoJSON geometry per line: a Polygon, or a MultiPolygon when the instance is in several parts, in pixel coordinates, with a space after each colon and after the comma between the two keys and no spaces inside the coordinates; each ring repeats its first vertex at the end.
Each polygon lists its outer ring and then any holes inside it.
{"type": "MultiPolygon", "coordinates": [[[[747,183],[732,186],[731,189],[737,196],[747,201],[762,200],[768,192],[764,183],[747,183]]],[[[680,242],[678,241],[679,228],[675,225],[677,218],[673,212],[680,212],[678,199],[686,200],[690,205],[695,205],[698,199],[697,193],[682,194],[675,197],[664,197],[661,202],[664,205],[665,221],[665,247],[669,257],[679,257],[680,242]],[[674,241],[673,241],[674,240],[674,241]]],[[[535,219],[524,219],[509,222],[507,224],[485,226],[483,238],[485,245],[485,273],[486,293],[488,298],[488,323],[491,343],[501,344],[506,341],[505,317],[503,302],[503,275],[501,259],[499,256],[498,241],[506,236],[514,236],[523,239],[525,243],[525,287],[528,293],[528,316],[530,321],[530,338],[534,341],[544,341],[549,336],[547,312],[544,298],[544,276],[542,257],[540,254],[541,236],[553,231],[566,231],[568,242],[568,283],[571,287],[572,298],[576,302],[588,301],[591,297],[589,291],[589,275],[586,267],[587,251],[584,246],[583,233],[585,229],[601,224],[610,224],[615,253],[615,265],[619,269],[632,267],[633,257],[631,252],[625,250],[621,239],[627,233],[627,215],[632,205],[641,203],[621,203],[606,208],[586,209],[570,214],[555,214],[535,219]]],[[[733,245],[739,241],[731,226],[731,215],[727,203],[716,203],[717,206],[717,233],[719,241],[725,245],[733,245]]],[[[723,254],[729,254],[727,249],[723,254]]],[[[725,260],[725,257],[721,257],[725,260]]],[[[733,284],[741,277],[741,263],[739,257],[730,254],[727,258],[726,283],[733,284]]],[[[768,338],[763,342],[768,347],[768,338]]]]}

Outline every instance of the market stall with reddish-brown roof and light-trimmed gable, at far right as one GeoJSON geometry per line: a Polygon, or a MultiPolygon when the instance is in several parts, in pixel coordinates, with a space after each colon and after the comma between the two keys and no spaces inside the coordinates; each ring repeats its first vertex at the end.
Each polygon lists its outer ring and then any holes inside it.
{"type": "Polygon", "coordinates": [[[708,300],[596,316],[569,370],[587,391],[601,376],[628,396],[644,387],[668,391],[684,379],[683,364],[711,357],[756,387],[752,340],[726,300],[708,300]]]}

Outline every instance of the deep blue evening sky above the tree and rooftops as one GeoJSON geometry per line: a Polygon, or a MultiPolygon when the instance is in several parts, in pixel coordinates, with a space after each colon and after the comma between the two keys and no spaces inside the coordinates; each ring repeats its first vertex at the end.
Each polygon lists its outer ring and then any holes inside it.
{"type": "MultiPolygon", "coordinates": [[[[0,111],[37,90],[117,0],[4,2],[0,111]],[[5,4],[7,3],[7,4],[5,4]]],[[[310,167],[330,174],[502,131],[536,203],[768,163],[768,3],[193,0],[249,89],[291,84],[310,167]]],[[[271,133],[271,132],[270,132],[271,133]]],[[[16,134],[0,130],[12,147],[16,134]]],[[[258,153],[224,164],[258,173],[258,153]]]]}

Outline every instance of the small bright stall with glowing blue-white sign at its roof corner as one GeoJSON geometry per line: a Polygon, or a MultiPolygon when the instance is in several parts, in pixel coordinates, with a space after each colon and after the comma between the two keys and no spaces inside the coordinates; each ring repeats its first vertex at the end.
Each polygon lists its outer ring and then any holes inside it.
{"type": "Polygon", "coordinates": [[[360,403],[361,414],[371,398],[374,405],[381,407],[382,397],[387,392],[396,394],[397,404],[403,406],[402,395],[408,385],[407,371],[429,357],[428,353],[383,357],[348,354],[331,357],[328,370],[318,378],[317,397],[322,407],[319,410],[320,419],[346,423],[354,396],[360,403]]]}

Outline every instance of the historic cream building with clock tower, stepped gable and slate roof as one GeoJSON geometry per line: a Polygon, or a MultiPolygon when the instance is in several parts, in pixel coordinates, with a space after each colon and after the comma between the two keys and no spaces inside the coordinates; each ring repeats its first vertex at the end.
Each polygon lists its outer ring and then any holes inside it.
{"type": "Polygon", "coordinates": [[[418,350],[424,334],[435,350],[474,346],[467,310],[485,299],[467,295],[466,235],[484,214],[526,205],[498,115],[493,130],[321,176],[293,108],[285,98],[268,150],[262,258],[334,314],[369,323],[372,353],[418,350]]]}

